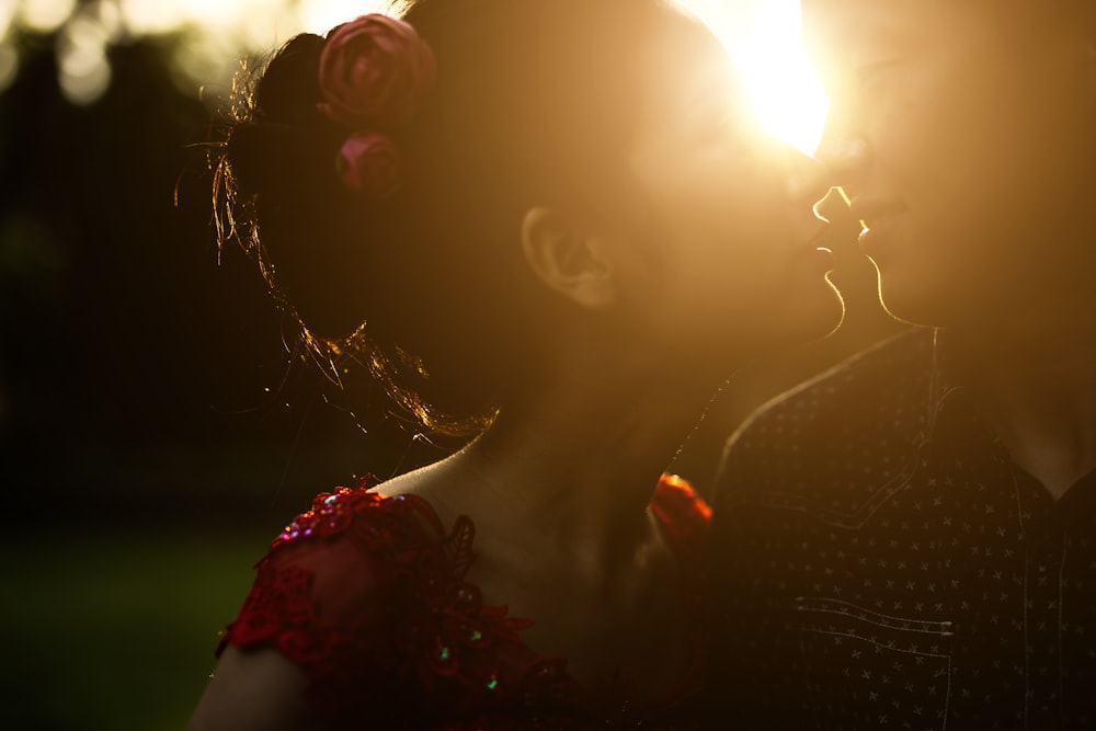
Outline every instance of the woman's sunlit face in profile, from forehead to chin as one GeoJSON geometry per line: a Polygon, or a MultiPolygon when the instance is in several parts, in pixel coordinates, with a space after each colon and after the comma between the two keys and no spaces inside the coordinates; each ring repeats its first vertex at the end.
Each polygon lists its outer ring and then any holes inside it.
{"type": "Polygon", "coordinates": [[[729,55],[699,22],[672,19],[644,62],[629,158],[658,270],[644,325],[660,345],[719,362],[830,332],[842,304],[814,242],[820,165],[758,129],[729,55]]]}

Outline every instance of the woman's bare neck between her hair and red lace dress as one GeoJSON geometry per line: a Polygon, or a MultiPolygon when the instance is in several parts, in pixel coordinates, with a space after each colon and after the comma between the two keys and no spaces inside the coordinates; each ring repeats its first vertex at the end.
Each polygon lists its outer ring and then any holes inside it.
{"type": "Polygon", "coordinates": [[[689,368],[669,361],[664,352],[567,358],[471,444],[384,491],[472,516],[478,542],[612,570],[652,539],[652,492],[720,382],[689,382],[689,368]]]}

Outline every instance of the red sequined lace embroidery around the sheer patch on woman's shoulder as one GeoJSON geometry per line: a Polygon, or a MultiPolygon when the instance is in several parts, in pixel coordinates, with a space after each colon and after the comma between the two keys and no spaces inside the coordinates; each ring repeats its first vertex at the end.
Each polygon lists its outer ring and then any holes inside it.
{"type": "Polygon", "coordinates": [[[499,644],[520,646],[517,632],[533,623],[507,616],[505,606],[483,606],[479,589],[464,581],[473,537],[467,516],[446,535],[429,503],[414,495],[384,498],[364,481],[321,493],[271,544],[221,647],[276,648],[308,672],[309,700],[336,712],[354,704],[362,678],[370,677],[384,685],[414,677],[425,695],[465,703],[513,695],[517,687],[507,687],[515,684],[491,661],[499,644]],[[395,603],[380,616],[357,623],[324,617],[311,593],[312,572],[278,561],[290,547],[336,538],[373,557],[376,579],[390,587],[385,597],[395,603]]]}

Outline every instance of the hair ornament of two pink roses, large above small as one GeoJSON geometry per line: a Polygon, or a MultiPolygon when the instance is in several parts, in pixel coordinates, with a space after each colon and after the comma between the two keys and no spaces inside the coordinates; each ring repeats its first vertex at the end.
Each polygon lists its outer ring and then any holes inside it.
{"type": "Polygon", "coordinates": [[[320,56],[319,111],[353,129],[335,159],[352,191],[391,195],[401,182],[402,158],[386,132],[414,118],[433,89],[436,64],[430,46],[401,20],[370,13],[328,36],[320,56]]]}

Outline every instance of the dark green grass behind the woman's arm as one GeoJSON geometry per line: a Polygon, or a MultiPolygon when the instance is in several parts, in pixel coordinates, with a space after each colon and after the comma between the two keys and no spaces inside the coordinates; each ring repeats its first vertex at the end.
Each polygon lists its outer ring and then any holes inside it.
{"type": "Polygon", "coordinates": [[[5,539],[0,728],[182,729],[272,537],[103,527],[5,539]]]}

